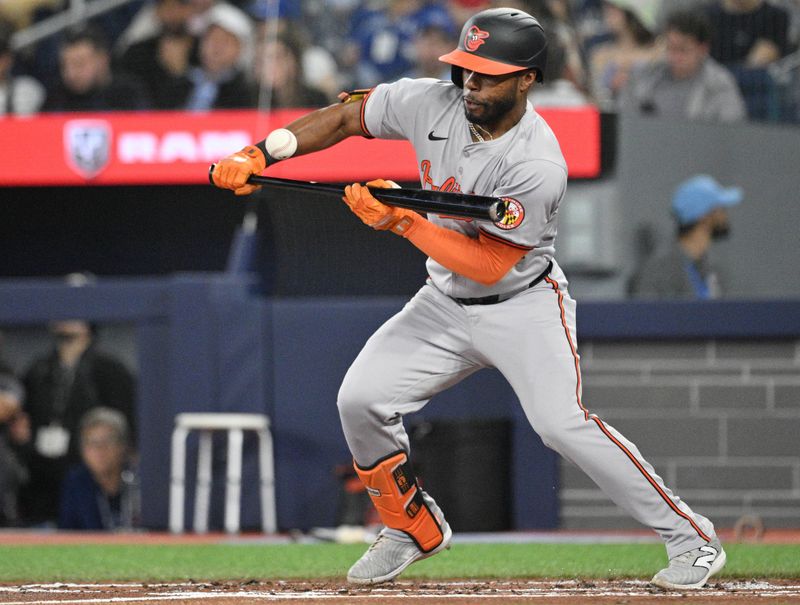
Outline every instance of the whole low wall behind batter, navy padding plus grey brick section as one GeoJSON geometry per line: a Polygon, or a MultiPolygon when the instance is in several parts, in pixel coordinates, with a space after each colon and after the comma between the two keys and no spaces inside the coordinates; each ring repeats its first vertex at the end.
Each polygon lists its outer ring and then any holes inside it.
{"type": "MultiPolygon", "coordinates": [[[[46,346],[41,328],[28,326],[54,317],[135,325],[133,334],[117,329],[104,339],[119,336],[116,346],[105,342],[121,354],[135,342],[150,527],[166,524],[172,417],[189,410],[268,413],[280,527],[335,519],[331,467],[349,459],[336,392],[368,335],[405,299],[263,299],[250,286],[219,275],[84,288],[0,280],[0,326],[17,351],[34,351],[23,346],[26,333],[40,335],[36,350],[46,346]]],[[[800,303],[586,303],[578,334],[585,404],[632,439],[681,497],[722,527],[750,512],[768,526],[800,527],[800,303]]],[[[553,527],[559,517],[568,528],[634,524],[580,471],[562,462],[559,473],[497,372],[476,374],[414,417],[476,418],[513,422],[514,527],[553,527]]],[[[221,479],[224,459],[215,462],[221,479]]],[[[254,473],[250,448],[248,485],[254,473]]],[[[257,513],[257,492],[245,490],[247,527],[257,513]]]]}

